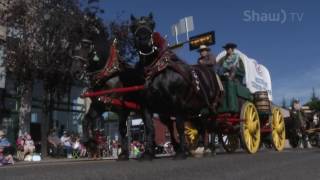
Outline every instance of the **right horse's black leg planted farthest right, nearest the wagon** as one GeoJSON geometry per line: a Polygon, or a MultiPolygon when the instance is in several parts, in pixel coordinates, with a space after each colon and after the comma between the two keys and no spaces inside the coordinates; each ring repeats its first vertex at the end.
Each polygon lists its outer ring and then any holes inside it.
{"type": "Polygon", "coordinates": [[[175,159],[186,159],[186,140],[185,140],[185,134],[184,134],[184,121],[185,117],[181,115],[176,116],[176,126],[177,131],[179,134],[179,140],[180,140],[180,149],[178,152],[176,152],[175,159]]]}

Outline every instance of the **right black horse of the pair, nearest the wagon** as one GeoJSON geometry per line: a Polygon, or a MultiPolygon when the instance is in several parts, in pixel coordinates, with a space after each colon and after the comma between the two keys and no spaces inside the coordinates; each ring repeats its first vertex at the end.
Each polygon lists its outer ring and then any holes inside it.
{"type": "MultiPolygon", "coordinates": [[[[153,16],[136,18],[131,16],[131,32],[134,34],[135,47],[139,53],[140,69],[146,79],[146,119],[152,113],[158,113],[162,122],[169,129],[172,128],[170,117],[176,118],[176,127],[179,134],[179,149],[175,148],[176,158],[186,158],[184,122],[199,119],[198,115],[207,109],[211,116],[219,94],[218,81],[212,69],[205,66],[190,66],[178,58],[168,48],[157,46],[157,34],[154,33],[155,22],[153,16]]],[[[207,118],[205,117],[205,122],[207,118]]],[[[207,127],[203,122],[201,134],[207,127]]]]}

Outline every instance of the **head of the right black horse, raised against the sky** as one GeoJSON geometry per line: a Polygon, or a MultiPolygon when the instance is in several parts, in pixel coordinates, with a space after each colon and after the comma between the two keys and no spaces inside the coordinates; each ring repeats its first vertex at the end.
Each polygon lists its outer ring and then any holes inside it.
{"type": "Polygon", "coordinates": [[[131,15],[130,31],[134,35],[134,44],[140,55],[150,55],[155,51],[153,32],[155,22],[152,13],[136,18],[131,15]]]}

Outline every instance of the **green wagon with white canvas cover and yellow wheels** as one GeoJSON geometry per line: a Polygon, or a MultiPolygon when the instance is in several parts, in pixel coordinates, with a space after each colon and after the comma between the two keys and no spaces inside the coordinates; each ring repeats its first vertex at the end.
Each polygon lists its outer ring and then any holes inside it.
{"type": "MultiPolygon", "coordinates": [[[[272,88],[269,71],[239,50],[239,65],[234,80],[220,76],[224,95],[212,119],[216,122],[219,142],[227,152],[242,147],[248,153],[256,153],[263,143],[281,151],[285,144],[285,122],[280,108],[272,104],[272,88]]],[[[222,61],[226,52],[217,56],[222,61]]],[[[190,125],[189,125],[190,126],[190,125]]],[[[189,139],[196,131],[187,127],[189,139]]]]}

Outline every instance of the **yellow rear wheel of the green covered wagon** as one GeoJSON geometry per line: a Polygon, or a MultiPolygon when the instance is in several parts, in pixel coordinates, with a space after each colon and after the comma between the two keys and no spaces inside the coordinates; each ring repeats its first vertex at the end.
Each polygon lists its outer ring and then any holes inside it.
{"type": "Polygon", "coordinates": [[[284,149],[286,140],[286,128],[284,124],[284,118],[279,108],[272,109],[272,145],[277,151],[284,149]]]}

